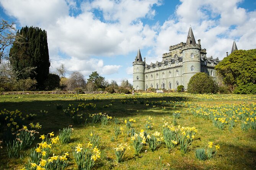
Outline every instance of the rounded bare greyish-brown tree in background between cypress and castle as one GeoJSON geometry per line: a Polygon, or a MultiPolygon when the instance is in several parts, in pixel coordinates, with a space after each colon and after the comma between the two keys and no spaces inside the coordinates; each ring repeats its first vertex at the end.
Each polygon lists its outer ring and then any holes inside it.
{"type": "Polygon", "coordinates": [[[67,80],[68,90],[74,90],[75,88],[85,88],[85,85],[85,77],[78,71],[73,72],[67,80]]]}

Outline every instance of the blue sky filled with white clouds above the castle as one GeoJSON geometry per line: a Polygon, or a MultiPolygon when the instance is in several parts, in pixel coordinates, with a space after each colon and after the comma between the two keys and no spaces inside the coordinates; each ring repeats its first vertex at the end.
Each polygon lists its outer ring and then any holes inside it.
{"type": "Polygon", "coordinates": [[[256,47],[255,0],[0,0],[0,18],[16,29],[47,31],[50,71],[93,71],[109,82],[132,83],[140,48],[146,63],[161,61],[171,45],[186,42],[189,27],[207,57],[256,47]]]}

